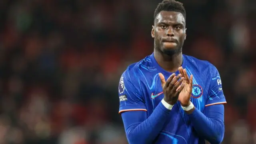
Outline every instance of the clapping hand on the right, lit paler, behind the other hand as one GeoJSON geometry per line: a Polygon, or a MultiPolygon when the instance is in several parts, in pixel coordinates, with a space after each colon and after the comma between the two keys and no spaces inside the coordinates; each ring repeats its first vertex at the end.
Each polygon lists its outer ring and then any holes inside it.
{"type": "MultiPolygon", "coordinates": [[[[184,77],[185,79],[182,82],[182,84],[184,85],[184,88],[179,94],[178,101],[180,101],[180,104],[182,106],[186,107],[186,106],[190,105],[190,97],[192,94],[193,75],[190,75],[190,78],[189,78],[188,74],[186,72],[186,69],[183,69],[182,67],[179,67],[179,72],[180,72],[180,74],[182,74],[182,77],[184,77]]],[[[179,88],[177,88],[177,90],[179,88]]]]}

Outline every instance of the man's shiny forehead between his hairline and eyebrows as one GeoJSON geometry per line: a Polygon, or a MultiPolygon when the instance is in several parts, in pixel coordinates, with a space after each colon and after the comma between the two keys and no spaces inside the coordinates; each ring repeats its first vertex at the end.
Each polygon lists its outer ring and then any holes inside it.
{"type": "Polygon", "coordinates": [[[182,13],[180,12],[161,11],[156,16],[156,23],[159,23],[159,22],[173,22],[173,23],[185,24],[185,19],[182,13]]]}

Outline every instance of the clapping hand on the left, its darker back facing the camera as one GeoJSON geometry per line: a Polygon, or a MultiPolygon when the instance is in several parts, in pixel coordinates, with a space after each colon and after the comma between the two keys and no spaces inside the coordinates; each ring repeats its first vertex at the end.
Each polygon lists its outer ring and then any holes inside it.
{"type": "Polygon", "coordinates": [[[180,92],[184,88],[184,84],[182,84],[184,77],[180,79],[181,76],[182,76],[181,74],[178,74],[178,76],[175,76],[175,74],[172,74],[165,81],[164,75],[162,73],[159,73],[159,77],[161,79],[162,88],[164,92],[164,101],[166,101],[168,104],[174,105],[178,100],[180,92]]]}

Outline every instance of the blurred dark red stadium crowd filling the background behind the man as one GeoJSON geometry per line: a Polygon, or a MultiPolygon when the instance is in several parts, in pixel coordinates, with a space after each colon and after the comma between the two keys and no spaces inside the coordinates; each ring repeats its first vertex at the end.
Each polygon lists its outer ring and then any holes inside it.
{"type": "MultiPolygon", "coordinates": [[[[183,53],[222,78],[222,144],[256,144],[256,1],[180,1],[183,53]]],[[[0,144],[127,144],[118,82],[153,52],[159,2],[0,0],[0,144]]]]}

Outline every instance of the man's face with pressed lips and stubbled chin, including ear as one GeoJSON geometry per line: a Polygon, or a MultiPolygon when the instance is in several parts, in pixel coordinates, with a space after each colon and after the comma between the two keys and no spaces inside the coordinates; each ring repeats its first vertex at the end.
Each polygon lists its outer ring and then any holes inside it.
{"type": "Polygon", "coordinates": [[[152,26],[154,47],[164,54],[178,54],[186,39],[185,19],[180,12],[161,11],[152,26]]]}

